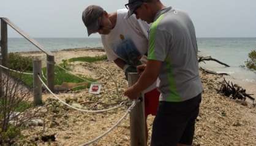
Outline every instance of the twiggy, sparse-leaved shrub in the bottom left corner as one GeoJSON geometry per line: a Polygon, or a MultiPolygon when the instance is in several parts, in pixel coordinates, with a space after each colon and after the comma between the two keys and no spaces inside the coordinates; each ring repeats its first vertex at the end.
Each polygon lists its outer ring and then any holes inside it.
{"type": "Polygon", "coordinates": [[[31,120],[34,113],[28,112],[33,105],[31,94],[21,85],[20,78],[12,80],[10,72],[2,75],[0,91],[0,145],[12,145],[21,137],[23,123],[31,120]]]}

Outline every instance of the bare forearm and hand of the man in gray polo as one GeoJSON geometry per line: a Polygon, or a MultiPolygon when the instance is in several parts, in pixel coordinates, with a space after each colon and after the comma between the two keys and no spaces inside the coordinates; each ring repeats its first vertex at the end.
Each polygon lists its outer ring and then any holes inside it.
{"type": "Polygon", "coordinates": [[[161,66],[162,61],[148,60],[145,71],[141,74],[138,81],[124,92],[124,96],[129,97],[129,99],[137,99],[141,91],[156,81],[161,66]]]}

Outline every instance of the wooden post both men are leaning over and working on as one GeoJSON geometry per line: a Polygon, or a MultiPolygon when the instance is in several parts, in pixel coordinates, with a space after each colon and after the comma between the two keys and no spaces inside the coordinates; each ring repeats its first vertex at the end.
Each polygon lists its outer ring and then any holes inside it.
{"type": "MultiPolygon", "coordinates": [[[[132,86],[138,80],[137,73],[128,73],[128,85],[132,86]]],[[[145,127],[145,109],[144,99],[130,112],[130,145],[146,146],[146,127],[145,127]]]]}

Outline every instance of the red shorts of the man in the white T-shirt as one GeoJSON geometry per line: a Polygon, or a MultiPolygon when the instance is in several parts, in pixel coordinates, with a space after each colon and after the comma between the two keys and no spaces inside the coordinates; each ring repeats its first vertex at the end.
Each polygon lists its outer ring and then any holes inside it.
{"type": "Polygon", "coordinates": [[[156,88],[144,94],[145,117],[148,117],[149,114],[156,116],[159,96],[160,92],[156,88]]]}

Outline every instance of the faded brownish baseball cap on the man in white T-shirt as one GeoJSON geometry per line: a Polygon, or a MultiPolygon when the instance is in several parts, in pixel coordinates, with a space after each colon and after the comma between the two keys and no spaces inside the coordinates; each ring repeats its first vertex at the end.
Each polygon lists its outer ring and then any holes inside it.
{"type": "Polygon", "coordinates": [[[83,23],[86,26],[88,36],[92,33],[97,32],[100,28],[99,18],[104,13],[102,7],[98,5],[89,5],[84,11],[82,15],[83,23]]]}

